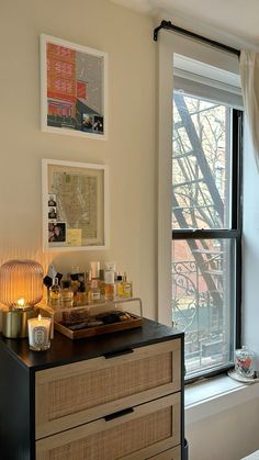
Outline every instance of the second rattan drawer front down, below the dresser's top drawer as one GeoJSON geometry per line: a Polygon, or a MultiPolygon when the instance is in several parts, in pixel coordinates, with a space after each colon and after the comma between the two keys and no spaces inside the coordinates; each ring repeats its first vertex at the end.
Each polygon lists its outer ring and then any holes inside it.
{"type": "Polygon", "coordinates": [[[36,460],[143,460],[180,442],[180,393],[41,439],[36,460]]]}

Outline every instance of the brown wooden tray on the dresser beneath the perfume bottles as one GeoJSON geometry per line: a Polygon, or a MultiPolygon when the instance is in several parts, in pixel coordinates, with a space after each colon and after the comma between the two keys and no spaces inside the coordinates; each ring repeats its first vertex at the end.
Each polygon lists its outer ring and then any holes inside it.
{"type": "Polygon", "coordinates": [[[93,326],[79,330],[71,330],[64,324],[57,322],[54,323],[54,327],[59,333],[74,340],[77,338],[93,337],[102,334],[115,333],[116,330],[133,329],[134,327],[140,327],[142,323],[142,317],[132,315],[132,318],[128,321],[123,321],[121,323],[113,324],[103,324],[101,326],[93,326]]]}

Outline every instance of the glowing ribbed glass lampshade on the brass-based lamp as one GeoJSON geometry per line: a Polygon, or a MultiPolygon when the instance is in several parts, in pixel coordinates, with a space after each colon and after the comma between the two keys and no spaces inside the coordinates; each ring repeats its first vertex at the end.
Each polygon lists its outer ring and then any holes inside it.
{"type": "Polygon", "coordinates": [[[43,298],[43,268],[34,260],[9,260],[0,267],[0,301],[12,307],[35,305],[43,298]]]}

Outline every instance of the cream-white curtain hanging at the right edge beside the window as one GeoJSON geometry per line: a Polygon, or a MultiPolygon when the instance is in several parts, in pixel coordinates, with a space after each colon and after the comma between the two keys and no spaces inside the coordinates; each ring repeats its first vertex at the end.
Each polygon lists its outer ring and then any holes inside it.
{"type": "Polygon", "coordinates": [[[259,170],[259,54],[241,51],[241,91],[259,170]]]}

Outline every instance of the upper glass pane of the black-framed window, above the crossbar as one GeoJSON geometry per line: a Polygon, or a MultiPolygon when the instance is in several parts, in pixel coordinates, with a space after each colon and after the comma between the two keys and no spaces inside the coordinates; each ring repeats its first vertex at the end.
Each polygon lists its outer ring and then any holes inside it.
{"type": "Polygon", "coordinates": [[[173,92],[172,228],[229,228],[232,109],[173,92]]]}

